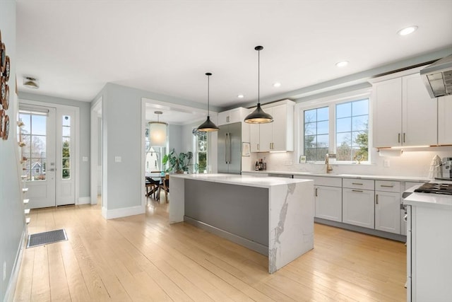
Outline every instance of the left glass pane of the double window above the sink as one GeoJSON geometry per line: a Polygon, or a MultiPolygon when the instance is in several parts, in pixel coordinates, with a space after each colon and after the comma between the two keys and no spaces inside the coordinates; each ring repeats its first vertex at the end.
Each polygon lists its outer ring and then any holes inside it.
{"type": "Polygon", "coordinates": [[[304,111],[304,155],[307,161],[323,161],[328,153],[328,107],[304,111]]]}

